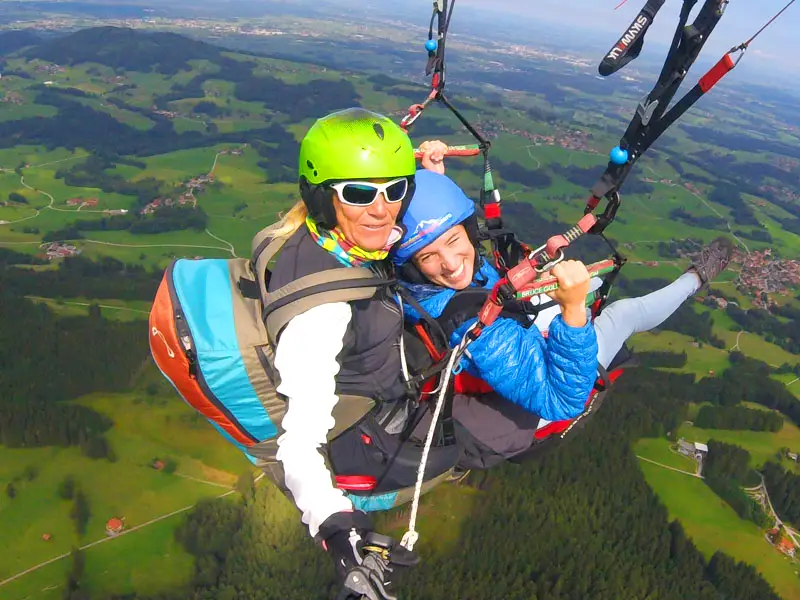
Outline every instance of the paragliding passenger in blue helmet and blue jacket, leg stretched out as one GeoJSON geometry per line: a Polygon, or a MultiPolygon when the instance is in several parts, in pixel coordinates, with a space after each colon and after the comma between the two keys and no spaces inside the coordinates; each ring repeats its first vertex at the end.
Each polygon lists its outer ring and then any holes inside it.
{"type": "MultiPolygon", "coordinates": [[[[417,172],[414,198],[403,217],[406,233],[393,260],[412,296],[439,318],[458,291],[491,289],[500,275],[478,244],[474,202],[444,175],[446,145],[426,142],[422,148],[426,170],[417,172]]],[[[501,315],[486,328],[469,346],[461,366],[492,392],[478,398],[457,395],[453,419],[503,457],[527,449],[542,420],[570,419],[583,411],[598,363],[607,368],[630,336],[667,319],[727,267],[732,253],[729,240],[714,240],[676,281],[647,296],[614,302],[594,322],[585,302],[586,267],[578,261],[559,263],[551,274],[560,288],[548,295],[560,314],[544,323],[537,318],[536,327],[501,315]],[[545,327],[546,339],[540,331],[545,327]],[[498,411],[505,426],[493,428],[489,423],[497,423],[498,411]],[[513,435],[509,421],[516,425],[513,435]]],[[[420,318],[412,306],[405,309],[407,318],[420,318]]],[[[475,315],[474,309],[463,315],[451,334],[451,347],[475,315]]]]}

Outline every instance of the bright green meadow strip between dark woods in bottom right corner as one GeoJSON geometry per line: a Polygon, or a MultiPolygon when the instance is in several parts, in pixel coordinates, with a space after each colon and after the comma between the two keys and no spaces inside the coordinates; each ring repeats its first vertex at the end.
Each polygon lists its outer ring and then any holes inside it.
{"type": "Polygon", "coordinates": [[[778,553],[754,523],[744,521],[700,479],[640,461],[647,483],[706,559],[722,550],[753,565],[785,600],[800,598],[798,564],[778,553]]]}

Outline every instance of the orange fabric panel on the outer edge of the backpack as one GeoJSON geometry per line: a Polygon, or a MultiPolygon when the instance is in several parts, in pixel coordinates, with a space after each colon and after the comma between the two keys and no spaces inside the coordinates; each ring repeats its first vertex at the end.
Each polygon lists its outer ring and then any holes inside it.
{"type": "Polygon", "coordinates": [[[189,359],[186,358],[175,330],[175,312],[166,278],[167,273],[158,286],[153,307],[150,309],[149,338],[153,359],[187,403],[240,444],[252,446],[253,440],[228,420],[225,414],[206,397],[197,380],[189,374],[189,359]]]}

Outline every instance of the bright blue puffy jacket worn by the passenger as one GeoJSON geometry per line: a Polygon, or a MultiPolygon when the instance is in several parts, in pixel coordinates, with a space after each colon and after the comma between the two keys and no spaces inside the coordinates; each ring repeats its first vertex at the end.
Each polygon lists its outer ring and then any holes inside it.
{"type": "MultiPolygon", "coordinates": [[[[476,278],[486,280],[482,286],[491,288],[499,278],[495,268],[482,261],[476,278]]],[[[442,314],[456,293],[432,284],[404,285],[433,317],[442,314]]],[[[408,304],[404,309],[412,321],[419,319],[408,304]]],[[[453,332],[451,347],[476,320],[467,320],[453,332]]],[[[461,366],[504,398],[543,419],[571,419],[583,412],[597,377],[597,336],[591,322],[570,327],[561,315],[550,324],[547,339],[536,326],[526,329],[513,319],[500,317],[470,344],[461,366]]]]}

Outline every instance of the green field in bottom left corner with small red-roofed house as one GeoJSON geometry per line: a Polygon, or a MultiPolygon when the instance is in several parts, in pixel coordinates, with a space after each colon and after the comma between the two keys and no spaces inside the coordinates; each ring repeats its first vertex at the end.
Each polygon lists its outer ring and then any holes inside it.
{"type": "MultiPolygon", "coordinates": [[[[5,494],[0,498],[0,518],[6,524],[0,530],[0,553],[4,557],[0,580],[69,552],[73,546],[104,539],[105,522],[111,517],[125,517],[127,527],[134,527],[192,506],[201,498],[224,494],[239,474],[251,468],[236,448],[222,442],[219,433],[159,378],[151,368],[141,382],[155,383],[159,391],[154,396],[136,391],[92,394],[79,400],[114,419],[115,426],[107,433],[118,457],[113,463],[85,458],[77,448],[0,448],[3,489],[26,467],[38,469],[33,481],[17,481],[14,499],[5,494]],[[153,469],[151,463],[156,457],[175,459],[176,472],[153,469]],[[80,539],[68,516],[71,503],[56,493],[66,474],[75,476],[91,506],[87,533],[80,539]],[[52,535],[48,542],[41,539],[45,533],[52,535]]],[[[91,588],[129,592],[135,586],[137,591],[156,591],[185,580],[191,557],[171,537],[178,522],[171,518],[148,525],[142,533],[133,532],[93,548],[87,560],[91,588]],[[169,560],[156,568],[161,555],[169,560]],[[107,576],[114,568],[121,569],[121,579],[107,576]]],[[[33,589],[63,583],[61,573],[67,562],[23,576],[6,589],[12,593],[21,590],[14,597],[23,598],[33,589]]],[[[10,596],[3,595],[6,597],[10,596]]]]}

